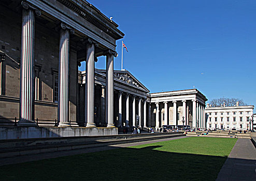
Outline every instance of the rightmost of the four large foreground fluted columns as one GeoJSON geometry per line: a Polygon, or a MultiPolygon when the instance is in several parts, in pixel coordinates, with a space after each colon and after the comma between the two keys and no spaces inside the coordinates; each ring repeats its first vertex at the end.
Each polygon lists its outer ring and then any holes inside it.
{"type": "Polygon", "coordinates": [[[108,50],[106,52],[107,66],[106,66],[106,118],[108,122],[107,127],[115,127],[114,125],[114,80],[113,80],[113,59],[117,56],[116,52],[108,50]]]}

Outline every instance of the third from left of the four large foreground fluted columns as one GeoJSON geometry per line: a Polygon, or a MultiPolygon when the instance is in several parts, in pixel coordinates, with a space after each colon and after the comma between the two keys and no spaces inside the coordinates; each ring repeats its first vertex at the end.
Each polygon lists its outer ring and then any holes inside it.
{"type": "Polygon", "coordinates": [[[94,123],[94,49],[98,44],[88,38],[86,53],[86,127],[96,127],[94,123]]]}

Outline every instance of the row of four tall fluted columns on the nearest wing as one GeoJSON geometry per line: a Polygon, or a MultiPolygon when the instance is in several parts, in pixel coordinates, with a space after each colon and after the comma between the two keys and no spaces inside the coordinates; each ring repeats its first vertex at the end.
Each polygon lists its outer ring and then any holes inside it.
{"type": "MultiPolygon", "coordinates": [[[[35,14],[39,9],[22,2],[22,37],[20,70],[20,126],[35,126],[34,120],[34,62],[35,62],[35,14]]],[[[70,34],[75,31],[65,23],[60,26],[59,76],[58,76],[58,121],[60,127],[69,123],[69,64],[70,34]]],[[[95,127],[94,123],[94,58],[98,43],[88,38],[86,52],[86,127],[95,127]]],[[[117,53],[105,51],[106,56],[106,119],[107,127],[115,127],[113,122],[113,56],[117,53]]]]}

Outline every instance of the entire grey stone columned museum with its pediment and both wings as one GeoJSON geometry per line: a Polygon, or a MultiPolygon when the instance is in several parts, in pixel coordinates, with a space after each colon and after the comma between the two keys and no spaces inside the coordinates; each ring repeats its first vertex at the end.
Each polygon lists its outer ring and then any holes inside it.
{"type": "Polygon", "coordinates": [[[121,127],[182,125],[183,117],[184,125],[205,127],[207,99],[197,89],[149,93],[131,72],[113,70],[116,41],[124,34],[87,1],[2,0],[0,15],[5,130],[117,134],[121,127]],[[104,70],[95,69],[99,56],[106,57],[104,70]],[[79,71],[83,61],[86,71],[79,71]]]}

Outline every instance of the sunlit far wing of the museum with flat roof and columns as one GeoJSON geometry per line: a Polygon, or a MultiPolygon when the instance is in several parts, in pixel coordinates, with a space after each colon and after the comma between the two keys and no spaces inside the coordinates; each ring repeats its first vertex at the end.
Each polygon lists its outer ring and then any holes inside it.
{"type": "Polygon", "coordinates": [[[152,126],[160,128],[163,125],[184,125],[191,128],[205,128],[205,101],[206,97],[197,89],[177,90],[172,92],[149,94],[153,109],[155,123],[152,126]]]}

